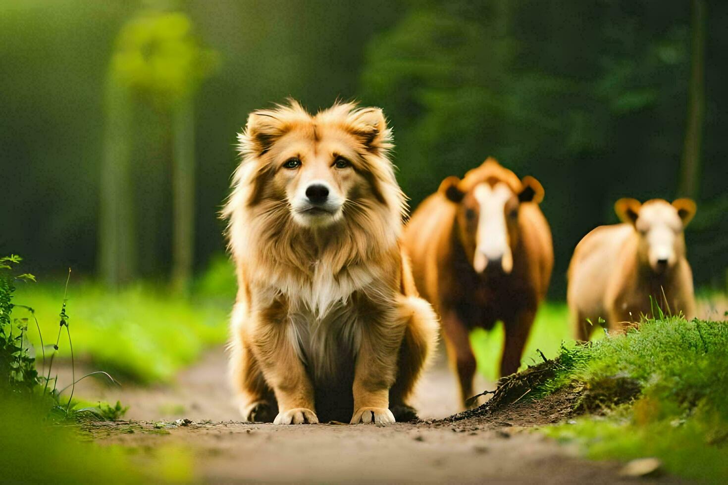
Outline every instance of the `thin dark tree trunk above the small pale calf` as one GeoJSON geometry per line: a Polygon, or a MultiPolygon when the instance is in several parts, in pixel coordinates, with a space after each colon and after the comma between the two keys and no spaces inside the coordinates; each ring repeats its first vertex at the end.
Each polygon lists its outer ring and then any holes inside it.
{"type": "Polygon", "coordinates": [[[705,22],[708,14],[705,0],[692,0],[691,5],[690,85],[678,195],[696,199],[700,190],[705,118],[705,22]]]}

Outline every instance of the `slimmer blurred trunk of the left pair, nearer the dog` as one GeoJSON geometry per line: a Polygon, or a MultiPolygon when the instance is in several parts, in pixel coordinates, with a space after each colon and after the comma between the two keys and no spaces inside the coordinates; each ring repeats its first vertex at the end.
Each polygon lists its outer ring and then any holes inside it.
{"type": "Polygon", "coordinates": [[[194,117],[192,98],[173,107],[173,268],[172,283],[186,293],[194,255],[194,117]]]}

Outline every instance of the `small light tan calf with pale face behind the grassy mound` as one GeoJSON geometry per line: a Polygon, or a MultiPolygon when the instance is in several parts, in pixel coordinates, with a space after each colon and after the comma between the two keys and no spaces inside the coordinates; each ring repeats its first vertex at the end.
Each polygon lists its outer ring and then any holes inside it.
{"type": "Polygon", "coordinates": [[[577,340],[588,340],[599,318],[620,331],[652,315],[650,297],[663,311],[695,316],[683,235],[695,202],[620,199],[614,211],[623,223],[594,229],[571,257],[567,300],[577,340]]]}

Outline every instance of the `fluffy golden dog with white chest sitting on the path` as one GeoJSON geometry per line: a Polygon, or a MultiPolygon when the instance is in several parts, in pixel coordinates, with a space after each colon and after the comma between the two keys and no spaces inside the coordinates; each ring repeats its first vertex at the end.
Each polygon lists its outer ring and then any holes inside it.
{"type": "Polygon", "coordinates": [[[254,111],[223,211],[237,266],[230,369],[245,420],[395,422],[438,322],[400,246],[379,108],[254,111]],[[276,411],[277,409],[277,411],[276,411]]]}

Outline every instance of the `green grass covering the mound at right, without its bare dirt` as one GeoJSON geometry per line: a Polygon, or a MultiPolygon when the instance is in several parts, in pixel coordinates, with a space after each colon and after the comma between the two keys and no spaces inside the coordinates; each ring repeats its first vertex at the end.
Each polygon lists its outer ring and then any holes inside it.
{"type": "Polygon", "coordinates": [[[563,369],[542,391],[598,388],[612,377],[641,386],[630,404],[545,428],[593,459],[657,457],[678,476],[728,479],[728,322],[646,321],[639,330],[563,350],[563,369]]]}

